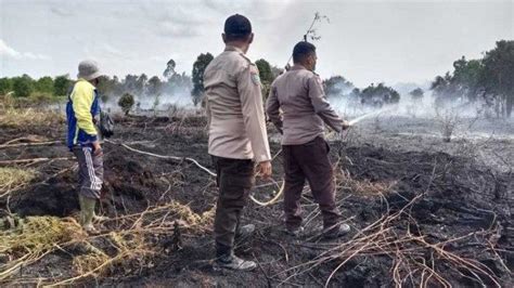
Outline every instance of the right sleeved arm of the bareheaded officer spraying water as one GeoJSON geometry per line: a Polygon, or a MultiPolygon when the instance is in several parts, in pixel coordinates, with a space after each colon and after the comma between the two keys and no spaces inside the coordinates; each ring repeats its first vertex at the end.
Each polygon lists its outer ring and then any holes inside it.
{"type": "Polygon", "coordinates": [[[309,97],[314,107],[316,114],[318,114],[321,119],[323,119],[323,121],[335,131],[343,131],[346,127],[346,121],[335,113],[329,101],[326,101],[321,79],[318,76],[310,77],[308,80],[308,87],[309,97]]]}

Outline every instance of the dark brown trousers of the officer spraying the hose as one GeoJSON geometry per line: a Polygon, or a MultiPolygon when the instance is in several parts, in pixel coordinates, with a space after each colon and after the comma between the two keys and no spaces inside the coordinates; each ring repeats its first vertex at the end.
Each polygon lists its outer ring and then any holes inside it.
{"type": "Polygon", "coordinates": [[[316,202],[320,206],[323,226],[327,228],[339,221],[329,150],[329,144],[320,136],[301,145],[282,145],[285,171],[284,211],[288,230],[301,225],[300,198],[306,179],[316,202]]]}

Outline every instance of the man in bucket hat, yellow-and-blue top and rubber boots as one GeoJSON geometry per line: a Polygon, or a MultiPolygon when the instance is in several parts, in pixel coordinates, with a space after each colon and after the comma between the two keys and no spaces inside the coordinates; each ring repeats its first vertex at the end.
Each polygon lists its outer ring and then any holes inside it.
{"type": "Polygon", "coordinates": [[[94,233],[94,206],[103,184],[103,153],[95,118],[100,115],[97,86],[101,73],[94,61],[78,65],[77,82],[66,105],[67,145],[75,154],[79,168],[80,224],[94,233]]]}

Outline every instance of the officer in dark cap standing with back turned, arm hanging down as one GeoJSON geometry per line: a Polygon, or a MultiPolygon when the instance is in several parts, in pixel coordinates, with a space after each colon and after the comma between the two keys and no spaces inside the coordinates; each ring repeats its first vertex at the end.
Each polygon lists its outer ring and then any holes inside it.
{"type": "Polygon", "coordinates": [[[255,172],[265,179],[271,175],[271,156],[259,71],[245,55],[254,40],[248,18],[239,14],[227,18],[222,39],[224,51],[204,73],[208,153],[219,187],[214,227],[216,262],[222,267],[253,270],[256,263],[234,256],[233,244],[234,238],[248,236],[255,230],[252,224],[240,225],[241,213],[255,172]]]}

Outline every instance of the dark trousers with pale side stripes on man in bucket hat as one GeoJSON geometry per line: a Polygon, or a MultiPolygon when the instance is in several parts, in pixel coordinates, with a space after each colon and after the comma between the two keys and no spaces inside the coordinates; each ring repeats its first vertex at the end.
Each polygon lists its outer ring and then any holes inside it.
{"type": "Polygon", "coordinates": [[[99,199],[103,184],[103,156],[94,156],[92,147],[77,145],[73,148],[78,159],[79,193],[99,199]]]}

